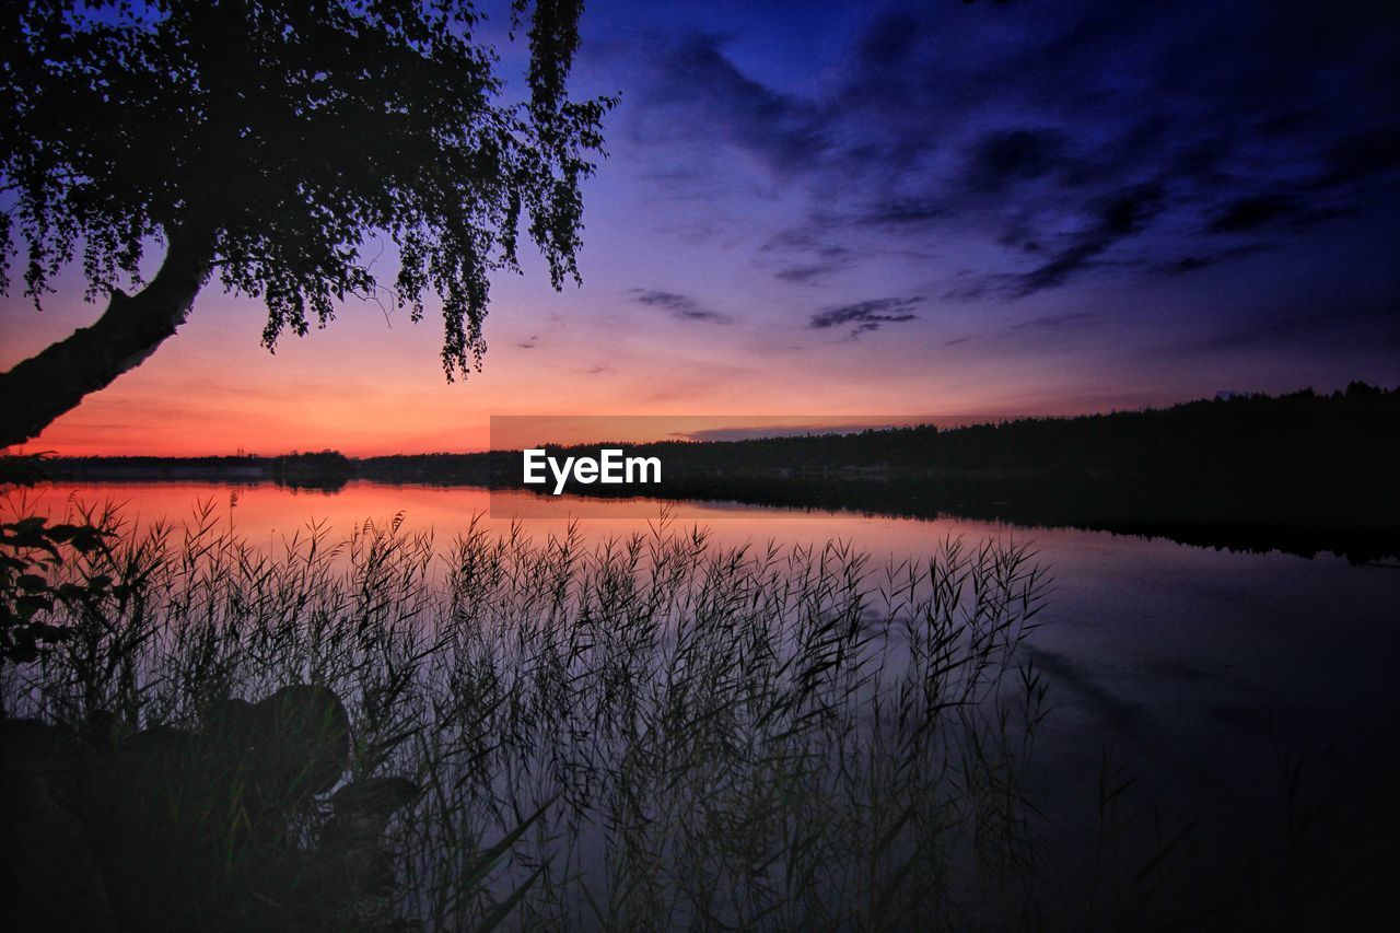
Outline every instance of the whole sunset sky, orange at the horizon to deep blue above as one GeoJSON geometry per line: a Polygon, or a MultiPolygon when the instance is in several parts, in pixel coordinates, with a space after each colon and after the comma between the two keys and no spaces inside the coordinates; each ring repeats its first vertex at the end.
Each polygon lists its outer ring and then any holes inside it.
{"type": "MultiPolygon", "coordinates": [[[[272,354],[262,305],[211,283],[25,450],[465,451],[493,415],[966,419],[1394,387],[1389,6],[591,0],[575,94],[622,102],[584,284],[554,293],[528,256],[498,276],[480,374],[444,380],[431,305],[414,325],[351,298],[272,354]]],[[[14,286],[0,367],[101,312],[78,270],[42,312],[14,286]]]]}

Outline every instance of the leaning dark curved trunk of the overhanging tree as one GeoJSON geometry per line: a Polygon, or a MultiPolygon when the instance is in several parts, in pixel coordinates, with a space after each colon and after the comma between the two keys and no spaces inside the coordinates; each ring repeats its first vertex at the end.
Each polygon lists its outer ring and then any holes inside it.
{"type": "Polygon", "coordinates": [[[53,419],[77,408],[155,352],[185,324],[209,277],[213,233],[185,226],[169,234],[165,262],[151,282],[127,296],[113,289],[106,311],[38,356],[0,373],[0,447],[36,437],[53,419]]]}

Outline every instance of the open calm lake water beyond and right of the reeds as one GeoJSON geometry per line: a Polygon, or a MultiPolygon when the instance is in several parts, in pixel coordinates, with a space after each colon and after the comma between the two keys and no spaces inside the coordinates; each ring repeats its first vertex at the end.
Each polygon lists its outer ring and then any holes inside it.
{"type": "MultiPolygon", "coordinates": [[[[50,485],[31,490],[28,504],[57,516],[74,502],[113,502],[150,523],[181,521],[197,503],[213,503],[220,523],[269,546],[312,523],[340,537],[399,513],[406,527],[444,541],[491,506],[496,517],[486,523],[501,530],[512,516],[535,535],[568,521],[526,517],[540,511],[533,496],[494,496],[361,482],[336,493],[171,482],[50,485]]],[[[636,514],[636,504],[575,500],[571,509],[589,537],[629,534],[648,521],[608,517],[636,514]]],[[[1050,821],[1092,815],[1100,755],[1112,747],[1138,778],[1141,806],[1159,804],[1182,821],[1198,817],[1226,834],[1240,820],[1281,820],[1285,752],[1308,756],[1303,792],[1326,801],[1338,825],[1397,825],[1390,790],[1400,778],[1400,569],[955,517],[686,503],[676,520],[707,525],[720,545],[839,538],[874,565],[927,553],[945,537],[1033,542],[1054,577],[1028,649],[1051,685],[1054,709],[1037,737],[1037,793],[1050,821]]]]}

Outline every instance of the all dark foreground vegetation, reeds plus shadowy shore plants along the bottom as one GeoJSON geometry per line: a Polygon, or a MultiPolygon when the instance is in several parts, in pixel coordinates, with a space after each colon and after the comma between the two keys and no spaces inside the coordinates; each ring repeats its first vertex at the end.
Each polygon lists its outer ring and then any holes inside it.
{"type": "Polygon", "coordinates": [[[267,553],[210,510],[17,517],[0,544],[7,912],[35,929],[1309,929],[1359,909],[1306,814],[1222,862],[1130,818],[1106,761],[1081,789],[1096,825],[1039,817],[1051,686],[1018,647],[1049,579],[1008,542],[885,569],[664,521],[445,545],[367,523],[267,553]]]}

